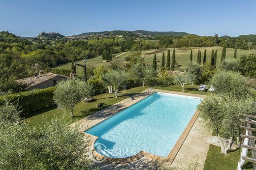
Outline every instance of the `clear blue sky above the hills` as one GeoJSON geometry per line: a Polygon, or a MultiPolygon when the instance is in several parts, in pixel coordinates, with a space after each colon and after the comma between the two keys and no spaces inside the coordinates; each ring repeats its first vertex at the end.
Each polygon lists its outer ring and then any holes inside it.
{"type": "Polygon", "coordinates": [[[0,0],[0,31],[76,35],[102,30],[256,34],[256,0],[0,0]]]}

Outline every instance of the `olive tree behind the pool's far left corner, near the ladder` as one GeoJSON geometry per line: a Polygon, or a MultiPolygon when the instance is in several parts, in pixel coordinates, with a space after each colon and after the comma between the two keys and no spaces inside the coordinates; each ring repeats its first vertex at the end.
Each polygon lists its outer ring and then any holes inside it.
{"type": "Polygon", "coordinates": [[[155,77],[155,75],[156,71],[150,65],[144,65],[139,62],[131,65],[130,76],[137,78],[136,80],[142,83],[143,88],[147,80],[155,77]]]}

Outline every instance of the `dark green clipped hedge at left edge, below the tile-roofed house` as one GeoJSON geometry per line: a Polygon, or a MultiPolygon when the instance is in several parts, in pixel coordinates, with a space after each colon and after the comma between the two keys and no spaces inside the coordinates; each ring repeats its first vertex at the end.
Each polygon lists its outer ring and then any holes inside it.
{"type": "Polygon", "coordinates": [[[8,94],[0,96],[0,105],[5,99],[10,100],[11,103],[17,102],[21,107],[22,115],[47,108],[54,104],[53,101],[54,87],[25,91],[15,94],[8,94]]]}

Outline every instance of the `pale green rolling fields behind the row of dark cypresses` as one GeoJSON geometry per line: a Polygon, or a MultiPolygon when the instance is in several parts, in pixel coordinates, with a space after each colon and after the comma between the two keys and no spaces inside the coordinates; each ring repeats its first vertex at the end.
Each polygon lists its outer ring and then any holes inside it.
{"type": "MultiPolygon", "coordinates": [[[[153,61],[154,54],[156,54],[157,55],[158,66],[160,67],[162,53],[163,52],[165,53],[165,61],[166,61],[167,50],[169,50],[169,49],[171,51],[171,56],[172,56],[173,48],[143,50],[142,51],[142,56],[145,57],[145,61],[147,63],[151,64],[152,61],[153,61]]],[[[204,50],[206,50],[206,55],[207,55],[206,60],[210,61],[212,49],[217,50],[217,68],[218,68],[220,66],[220,61],[221,61],[222,47],[193,47],[193,61],[196,62],[196,57],[197,57],[198,50],[200,50],[202,52],[202,57],[203,57],[204,50]]],[[[186,62],[188,62],[190,60],[190,51],[191,51],[191,48],[176,48],[175,49],[175,59],[177,60],[178,64],[182,65],[182,67],[184,67],[186,62]]],[[[254,52],[251,51],[251,50],[237,49],[237,58],[240,58],[243,55],[250,55],[250,54],[253,54],[253,53],[254,52]]],[[[122,53],[115,54],[115,56],[118,56],[120,54],[122,54],[122,53]]],[[[234,49],[226,48],[226,58],[233,58],[233,55],[234,55],[234,49]]],[[[120,65],[124,65],[127,62],[125,60],[125,57],[127,57],[127,56],[129,56],[128,52],[126,54],[120,56],[120,57],[113,58],[111,62],[118,63],[120,65]]],[[[83,60],[77,61],[77,63],[82,63],[82,61],[83,60]]],[[[98,56],[98,57],[95,57],[95,58],[88,59],[87,65],[88,66],[95,66],[95,67],[97,67],[98,65],[109,66],[109,65],[111,65],[111,62],[103,62],[102,57],[98,56]]],[[[67,63],[67,64],[64,64],[64,65],[58,66],[56,68],[68,69],[68,68],[71,67],[70,65],[71,65],[71,63],[67,63]]],[[[77,68],[77,74],[78,75],[83,74],[82,68],[77,68]]]]}

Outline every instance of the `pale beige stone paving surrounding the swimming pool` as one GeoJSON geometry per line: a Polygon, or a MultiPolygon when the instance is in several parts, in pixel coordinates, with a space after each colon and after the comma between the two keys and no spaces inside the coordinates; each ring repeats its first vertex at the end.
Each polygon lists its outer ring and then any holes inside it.
{"type": "MultiPolygon", "coordinates": [[[[199,94],[181,93],[181,92],[159,90],[159,89],[155,89],[155,91],[193,96],[193,97],[201,97],[201,98],[205,97],[204,95],[199,95],[199,94]]],[[[73,125],[76,124],[81,126],[82,130],[84,131],[96,125],[97,123],[105,120],[111,115],[114,115],[115,113],[118,113],[119,111],[137,103],[138,101],[142,100],[148,95],[149,95],[148,89],[146,89],[139,94],[131,96],[130,98],[127,98],[121,102],[118,102],[106,109],[103,109],[97,113],[89,115],[88,117],[85,117],[73,123],[73,125]]],[[[171,166],[180,167],[179,165],[181,163],[185,165],[187,163],[197,161],[199,163],[199,170],[203,169],[203,163],[206,159],[207,151],[209,149],[209,144],[210,144],[209,141],[211,141],[212,136],[211,136],[211,133],[204,128],[202,120],[200,118],[197,118],[196,113],[194,116],[193,116],[194,120],[189,123],[189,125],[192,128],[187,129],[187,133],[183,133],[181,135],[183,136],[184,139],[183,140],[179,139],[178,142],[176,143],[177,146],[176,145],[174,146],[176,147],[174,149],[176,151],[174,154],[171,154],[171,158],[172,158],[171,161],[170,159],[168,161],[163,161],[162,162],[163,164],[166,164],[166,165],[171,164],[171,166]]],[[[93,145],[96,138],[93,137],[92,139],[93,140],[91,144],[93,145]]],[[[113,170],[113,169],[115,170],[131,170],[131,169],[154,170],[158,168],[157,160],[161,160],[159,159],[159,156],[154,156],[153,154],[145,154],[143,155],[142,158],[140,157],[137,160],[128,159],[128,161],[124,161],[121,163],[103,162],[103,163],[97,163],[96,166],[99,166],[100,170],[113,170]]]]}

